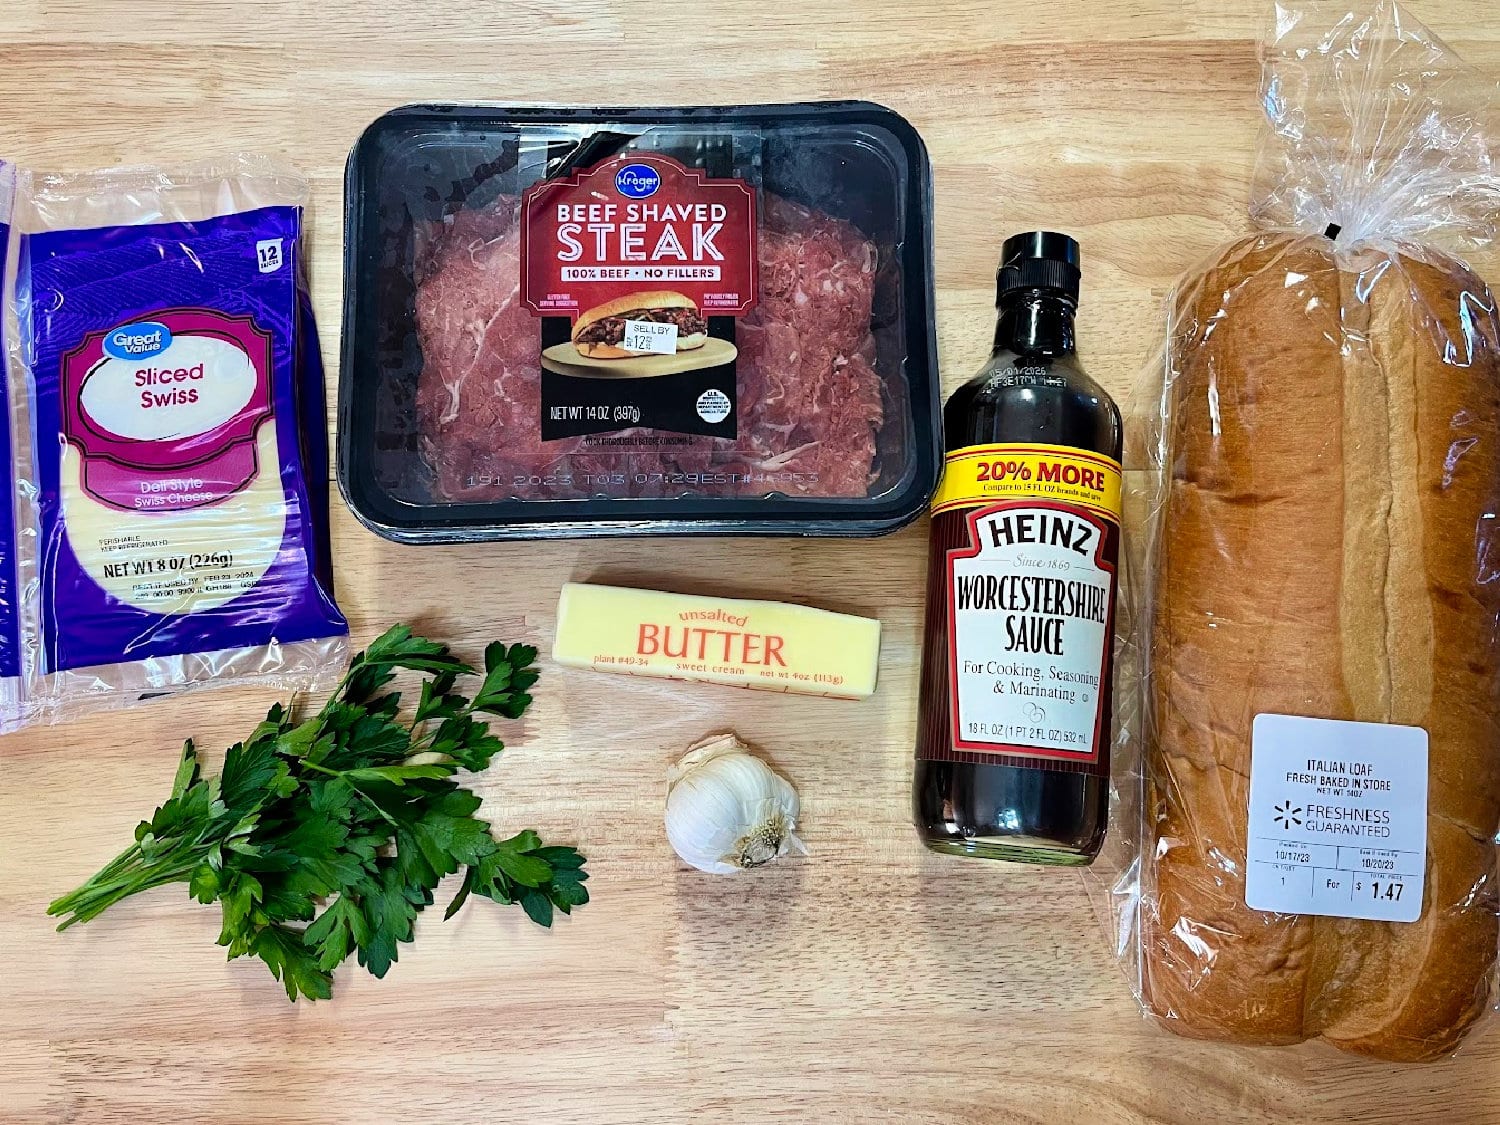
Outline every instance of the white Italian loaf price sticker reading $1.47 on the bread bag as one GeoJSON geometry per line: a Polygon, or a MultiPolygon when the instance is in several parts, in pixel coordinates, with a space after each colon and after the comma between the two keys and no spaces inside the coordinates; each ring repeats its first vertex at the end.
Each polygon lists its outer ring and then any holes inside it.
{"type": "Polygon", "coordinates": [[[1245,904],[1414,922],[1426,876],[1426,730],[1256,716],[1245,904]]]}

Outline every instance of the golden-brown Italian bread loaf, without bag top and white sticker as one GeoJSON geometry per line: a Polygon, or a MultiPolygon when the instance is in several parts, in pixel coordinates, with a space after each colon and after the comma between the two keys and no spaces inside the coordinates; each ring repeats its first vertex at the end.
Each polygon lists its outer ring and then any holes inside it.
{"type": "Polygon", "coordinates": [[[1179,288],[1142,987],[1185,1035],[1420,1060],[1491,1000],[1500,326],[1431,250],[1256,236],[1179,288]],[[1245,904],[1251,723],[1425,728],[1416,922],[1245,904]]]}

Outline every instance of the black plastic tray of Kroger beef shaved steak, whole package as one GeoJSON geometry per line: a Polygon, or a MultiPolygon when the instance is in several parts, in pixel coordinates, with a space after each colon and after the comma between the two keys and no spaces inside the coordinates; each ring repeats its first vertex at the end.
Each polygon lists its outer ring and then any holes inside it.
{"type": "Polygon", "coordinates": [[[411,106],[346,194],[339,471],[375,531],[861,536],[924,508],[930,171],[888,110],[411,106]]]}

